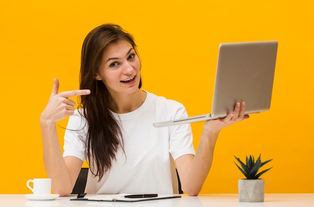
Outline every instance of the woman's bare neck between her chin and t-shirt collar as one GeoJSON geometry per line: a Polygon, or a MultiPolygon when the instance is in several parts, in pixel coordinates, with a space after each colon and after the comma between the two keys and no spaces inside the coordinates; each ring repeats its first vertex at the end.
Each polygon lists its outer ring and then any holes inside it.
{"type": "Polygon", "coordinates": [[[115,94],[111,95],[109,100],[109,108],[111,111],[124,114],[138,109],[146,99],[146,92],[140,89],[131,94],[115,94]]]}

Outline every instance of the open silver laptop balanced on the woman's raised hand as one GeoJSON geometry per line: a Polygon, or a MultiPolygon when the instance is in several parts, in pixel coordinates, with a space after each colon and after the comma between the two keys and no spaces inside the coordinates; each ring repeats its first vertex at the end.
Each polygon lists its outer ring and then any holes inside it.
{"type": "Polygon", "coordinates": [[[270,108],[277,41],[222,43],[219,46],[211,114],[153,123],[154,127],[226,117],[236,102],[245,101],[245,114],[270,108]]]}

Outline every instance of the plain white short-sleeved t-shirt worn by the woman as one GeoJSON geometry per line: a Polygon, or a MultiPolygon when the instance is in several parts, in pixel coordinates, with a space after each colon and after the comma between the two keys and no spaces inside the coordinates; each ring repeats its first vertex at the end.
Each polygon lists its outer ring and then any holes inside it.
{"type": "MultiPolygon", "coordinates": [[[[124,151],[118,150],[112,167],[98,182],[90,172],[85,192],[96,193],[178,193],[174,159],[195,154],[190,124],[155,128],[153,122],[185,118],[185,107],[176,101],[147,93],[135,111],[113,113],[122,126],[124,151]]],[[[69,118],[63,156],[86,160],[86,120],[76,110],[69,118]]]]}

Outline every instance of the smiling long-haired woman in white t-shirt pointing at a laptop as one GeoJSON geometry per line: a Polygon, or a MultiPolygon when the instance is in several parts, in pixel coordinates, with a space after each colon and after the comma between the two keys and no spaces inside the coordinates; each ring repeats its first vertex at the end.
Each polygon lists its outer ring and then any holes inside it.
{"type": "Polygon", "coordinates": [[[140,60],[132,36],[117,25],[101,25],[82,47],[80,89],[58,93],[54,80],[41,115],[44,163],[52,188],[72,192],[83,161],[90,171],[85,192],[197,195],[210,170],[220,130],[248,118],[236,103],[227,117],[205,122],[197,152],[190,124],[154,128],[153,122],[187,117],[184,106],[140,90],[140,60]],[[80,107],[68,99],[80,96],[80,107]],[[56,122],[70,116],[61,153],[56,122]]]}

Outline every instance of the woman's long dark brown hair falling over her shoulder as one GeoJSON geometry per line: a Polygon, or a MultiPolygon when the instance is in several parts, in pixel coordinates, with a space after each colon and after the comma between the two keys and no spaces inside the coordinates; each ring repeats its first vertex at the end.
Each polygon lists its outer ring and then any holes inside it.
{"type": "Polygon", "coordinates": [[[121,129],[108,108],[108,90],[102,81],[95,79],[103,52],[110,44],[119,41],[127,41],[136,51],[133,37],[113,24],[93,29],[82,46],[80,89],[90,89],[91,93],[80,97],[79,108],[82,108],[88,124],[85,144],[89,166],[93,175],[99,176],[99,180],[110,169],[119,147],[124,151],[121,129]]]}

